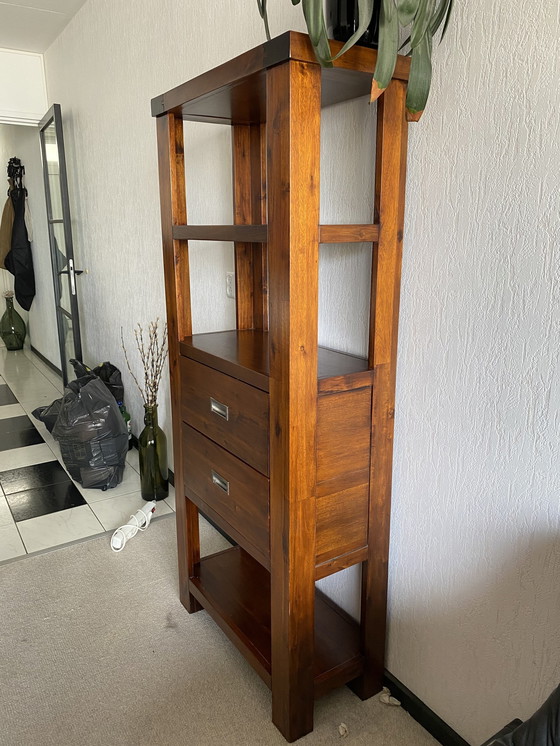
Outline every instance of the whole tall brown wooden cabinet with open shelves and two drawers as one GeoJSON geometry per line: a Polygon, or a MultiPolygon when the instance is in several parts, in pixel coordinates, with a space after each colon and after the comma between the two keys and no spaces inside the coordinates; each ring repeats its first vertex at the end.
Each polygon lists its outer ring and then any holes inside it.
{"type": "Polygon", "coordinates": [[[271,688],[288,741],[313,729],[315,697],[370,697],[384,668],[407,59],[377,104],[374,223],[319,221],[321,107],[367,96],[375,60],[354,47],[321,69],[289,32],[152,101],[181,600],[271,688]],[[187,223],[185,119],[233,128],[234,225],[187,223]],[[234,242],[235,331],[192,333],[189,239],[234,242]],[[319,244],[364,241],[367,359],[322,349],[317,328],[319,244]],[[237,546],[201,558],[199,511],[237,546]],[[315,587],[357,563],[360,624],[315,587]]]}

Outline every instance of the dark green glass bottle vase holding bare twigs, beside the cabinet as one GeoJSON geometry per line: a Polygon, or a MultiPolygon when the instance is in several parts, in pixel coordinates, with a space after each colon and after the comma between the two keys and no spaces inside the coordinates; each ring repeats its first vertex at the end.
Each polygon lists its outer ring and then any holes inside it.
{"type": "Polygon", "coordinates": [[[144,500],[169,495],[167,438],[157,422],[157,404],[144,404],[144,429],[138,438],[140,491],[144,500]]]}

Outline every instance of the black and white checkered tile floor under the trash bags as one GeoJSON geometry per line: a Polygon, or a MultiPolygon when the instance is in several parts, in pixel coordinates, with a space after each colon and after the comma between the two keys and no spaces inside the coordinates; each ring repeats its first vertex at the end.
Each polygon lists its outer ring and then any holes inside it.
{"type": "MultiPolygon", "coordinates": [[[[60,450],[31,416],[61,395],[61,379],[28,350],[0,348],[0,562],[111,531],[143,501],[138,452],[123,481],[102,492],[84,489],[64,469],[60,450]]],[[[170,488],[157,515],[175,508],[170,488]]]]}

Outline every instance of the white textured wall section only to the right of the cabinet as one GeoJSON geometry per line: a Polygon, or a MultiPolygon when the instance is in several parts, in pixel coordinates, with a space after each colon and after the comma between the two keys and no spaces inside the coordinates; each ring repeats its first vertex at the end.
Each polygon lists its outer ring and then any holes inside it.
{"type": "Polygon", "coordinates": [[[476,744],[560,683],[560,16],[455,6],[410,128],[389,664],[476,744]]]}

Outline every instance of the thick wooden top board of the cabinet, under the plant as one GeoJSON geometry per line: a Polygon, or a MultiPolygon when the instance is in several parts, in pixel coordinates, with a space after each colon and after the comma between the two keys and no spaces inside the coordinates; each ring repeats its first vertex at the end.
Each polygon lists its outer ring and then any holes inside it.
{"type": "MultiPolygon", "coordinates": [[[[342,48],[342,42],[330,45],[333,55],[342,48]]],[[[288,60],[319,64],[307,34],[287,31],[157,96],[152,99],[152,115],[173,112],[186,120],[223,124],[263,122],[265,72],[288,60]]],[[[368,95],[376,61],[376,50],[354,46],[334,67],[322,68],[321,105],[368,95]]],[[[408,80],[409,70],[410,59],[399,56],[393,77],[408,80]]]]}

